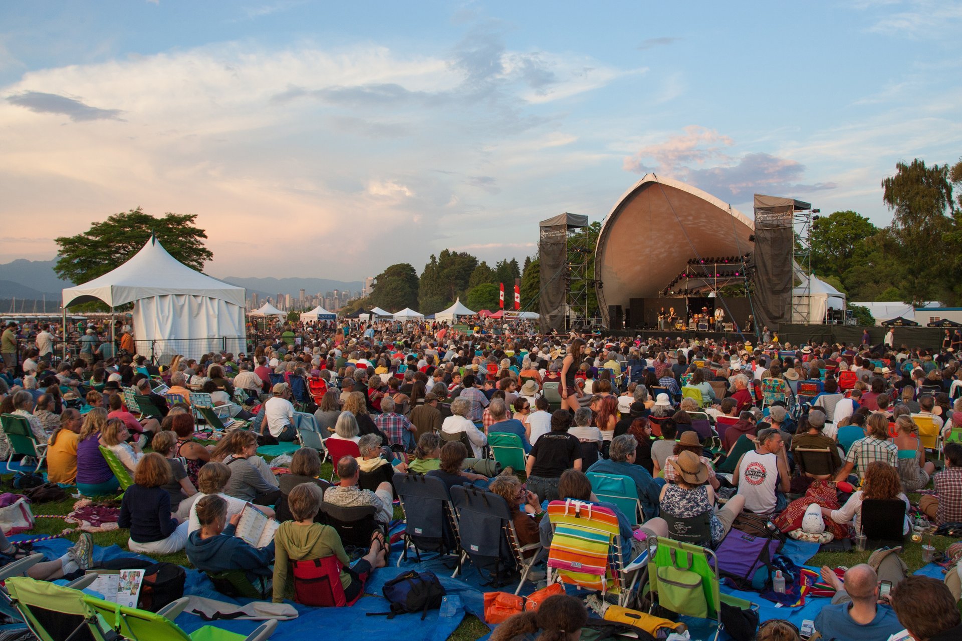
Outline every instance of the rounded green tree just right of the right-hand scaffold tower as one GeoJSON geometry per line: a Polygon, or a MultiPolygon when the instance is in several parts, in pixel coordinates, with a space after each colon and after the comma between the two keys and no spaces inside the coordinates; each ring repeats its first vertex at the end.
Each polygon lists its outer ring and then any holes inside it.
{"type": "Polygon", "coordinates": [[[840,280],[856,259],[868,251],[866,239],[878,232],[865,216],[855,211],[835,211],[812,223],[812,270],[840,280]]]}

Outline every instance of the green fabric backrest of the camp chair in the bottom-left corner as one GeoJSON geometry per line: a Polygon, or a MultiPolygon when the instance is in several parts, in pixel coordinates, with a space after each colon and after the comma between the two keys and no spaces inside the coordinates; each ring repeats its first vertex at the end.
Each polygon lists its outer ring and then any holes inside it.
{"type": "Polygon", "coordinates": [[[11,577],[4,584],[11,603],[40,641],[94,641],[87,623],[87,606],[80,590],[29,577],[11,577]]]}

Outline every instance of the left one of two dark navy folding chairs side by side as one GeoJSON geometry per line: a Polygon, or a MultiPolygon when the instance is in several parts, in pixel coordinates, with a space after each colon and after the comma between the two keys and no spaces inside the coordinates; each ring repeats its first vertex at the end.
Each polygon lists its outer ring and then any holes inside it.
{"type": "Polygon", "coordinates": [[[457,522],[447,485],[437,477],[419,474],[395,474],[394,489],[404,512],[404,553],[397,559],[408,559],[408,550],[439,555],[459,555],[457,522]]]}

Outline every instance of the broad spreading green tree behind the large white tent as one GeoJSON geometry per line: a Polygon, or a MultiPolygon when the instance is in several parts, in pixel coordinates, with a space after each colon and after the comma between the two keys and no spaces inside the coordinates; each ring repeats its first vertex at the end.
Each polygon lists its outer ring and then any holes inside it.
{"type": "Polygon", "coordinates": [[[197,214],[165,213],[152,216],[137,208],[93,223],[82,234],[54,238],[58,258],[54,271],[73,284],[87,283],[119,267],[157,234],[167,253],[197,271],[214,259],[204,246],[207,234],[195,225],[197,214]]]}

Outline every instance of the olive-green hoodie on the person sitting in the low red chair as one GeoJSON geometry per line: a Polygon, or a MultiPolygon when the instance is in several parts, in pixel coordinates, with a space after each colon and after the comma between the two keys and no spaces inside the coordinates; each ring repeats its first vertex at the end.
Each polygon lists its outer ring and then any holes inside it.
{"type": "MultiPolygon", "coordinates": [[[[282,523],[274,533],[273,602],[279,604],[293,598],[293,577],[288,576],[291,561],[311,561],[331,555],[336,555],[344,566],[350,564],[338,530],[319,523],[309,526],[299,526],[293,521],[282,523]]],[[[351,576],[343,570],[341,584],[345,588],[351,584],[351,576]]]]}

